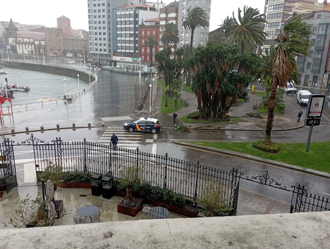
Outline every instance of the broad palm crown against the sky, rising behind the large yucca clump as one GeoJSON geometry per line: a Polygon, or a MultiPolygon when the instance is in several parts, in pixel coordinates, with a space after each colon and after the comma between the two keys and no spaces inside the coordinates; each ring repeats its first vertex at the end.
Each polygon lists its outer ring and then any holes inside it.
{"type": "Polygon", "coordinates": [[[233,17],[227,17],[220,25],[227,39],[240,46],[240,54],[247,48],[253,49],[255,44],[262,46],[266,35],[262,28],[265,14],[260,14],[258,9],[246,5],[243,8],[243,16],[241,13],[242,10],[238,8],[238,20],[233,12],[233,17]]]}

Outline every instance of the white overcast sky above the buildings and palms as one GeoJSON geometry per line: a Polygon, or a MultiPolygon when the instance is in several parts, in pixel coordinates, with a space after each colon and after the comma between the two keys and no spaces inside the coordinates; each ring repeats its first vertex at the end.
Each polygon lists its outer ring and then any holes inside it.
{"type": "MultiPolygon", "coordinates": [[[[174,0],[163,0],[169,4],[174,0]]],[[[155,0],[157,2],[157,0],[155,0]]],[[[319,0],[322,2],[322,0],[319,0]]],[[[224,18],[244,5],[264,11],[264,0],[212,0],[210,31],[218,28],[224,18]]],[[[74,29],[88,30],[87,0],[0,0],[0,21],[17,21],[24,24],[40,24],[47,27],[57,25],[56,18],[64,15],[71,19],[74,29]]]]}

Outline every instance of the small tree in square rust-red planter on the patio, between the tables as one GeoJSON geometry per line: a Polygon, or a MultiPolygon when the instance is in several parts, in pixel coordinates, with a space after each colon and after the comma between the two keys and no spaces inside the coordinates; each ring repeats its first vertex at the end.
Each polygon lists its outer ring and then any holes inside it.
{"type": "Polygon", "coordinates": [[[120,171],[122,185],[126,187],[126,198],[117,205],[117,212],[136,216],[143,206],[143,199],[133,197],[133,186],[140,181],[139,166],[123,167],[120,171]]]}

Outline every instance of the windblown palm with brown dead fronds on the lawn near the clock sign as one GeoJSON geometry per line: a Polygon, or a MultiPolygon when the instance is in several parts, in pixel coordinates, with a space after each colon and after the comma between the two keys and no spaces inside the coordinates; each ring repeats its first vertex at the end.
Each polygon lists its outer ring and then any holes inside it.
{"type": "Polygon", "coordinates": [[[310,41],[308,36],[312,34],[311,26],[301,16],[293,17],[279,30],[275,41],[276,54],[272,63],[272,86],[268,103],[268,118],[266,125],[265,144],[270,144],[271,131],[274,121],[274,108],[277,86],[286,87],[290,75],[296,70],[292,58],[309,54],[310,41]]]}

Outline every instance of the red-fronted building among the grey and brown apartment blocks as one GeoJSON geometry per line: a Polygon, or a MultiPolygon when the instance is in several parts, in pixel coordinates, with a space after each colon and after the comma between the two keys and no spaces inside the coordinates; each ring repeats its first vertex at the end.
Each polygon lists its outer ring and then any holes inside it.
{"type": "Polygon", "coordinates": [[[139,25],[139,55],[141,62],[153,62],[154,54],[159,51],[159,46],[153,47],[153,51],[150,51],[150,48],[145,45],[150,36],[155,38],[159,44],[159,18],[146,20],[144,24],[139,25]]]}

